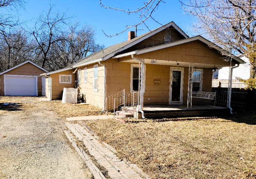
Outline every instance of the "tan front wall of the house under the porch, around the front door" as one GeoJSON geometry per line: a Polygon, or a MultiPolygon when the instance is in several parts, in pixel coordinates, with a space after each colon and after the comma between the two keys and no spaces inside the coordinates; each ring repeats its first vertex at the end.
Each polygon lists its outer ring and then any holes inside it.
{"type": "MultiPolygon", "coordinates": [[[[131,63],[108,59],[106,66],[106,97],[122,89],[125,89],[125,93],[128,93],[131,82],[131,63]]],[[[169,65],[146,64],[144,105],[169,104],[170,67],[169,65]],[[160,83],[154,83],[154,80],[160,80],[160,83]]],[[[188,100],[188,67],[180,68],[184,68],[183,104],[186,104],[188,100]]],[[[212,68],[203,68],[202,85],[203,91],[212,91],[212,68]]],[[[193,98],[192,101],[195,104],[204,100],[193,98]]]]}

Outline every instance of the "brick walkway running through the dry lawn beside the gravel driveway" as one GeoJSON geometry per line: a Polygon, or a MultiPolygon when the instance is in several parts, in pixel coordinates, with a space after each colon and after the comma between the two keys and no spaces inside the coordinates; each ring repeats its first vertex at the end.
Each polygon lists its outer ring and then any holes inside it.
{"type": "Polygon", "coordinates": [[[129,167],[129,165],[118,159],[118,157],[112,151],[110,151],[107,147],[102,147],[95,137],[87,132],[84,127],[79,124],[65,123],[65,125],[71,132],[73,132],[78,140],[82,140],[84,142],[84,145],[89,150],[89,153],[94,156],[101,166],[106,168],[110,178],[142,179],[139,174],[129,167]]]}

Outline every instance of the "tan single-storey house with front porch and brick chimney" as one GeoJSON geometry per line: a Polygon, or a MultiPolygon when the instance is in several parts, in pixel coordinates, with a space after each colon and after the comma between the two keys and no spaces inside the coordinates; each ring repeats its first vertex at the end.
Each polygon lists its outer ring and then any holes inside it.
{"type": "MultiPolygon", "coordinates": [[[[138,37],[130,31],[124,42],[42,74],[49,86],[46,96],[61,99],[63,88],[77,88],[86,103],[103,110],[132,105],[143,113],[146,105],[172,104],[181,109],[191,97],[188,89],[195,94],[211,92],[213,68],[230,66],[230,61],[223,60],[223,51],[201,36],[189,38],[174,22],[138,37]]],[[[230,58],[233,67],[244,63],[231,54],[230,58]]],[[[200,103],[205,100],[193,98],[193,104],[200,103]]],[[[187,110],[187,105],[183,108],[187,110]]]]}

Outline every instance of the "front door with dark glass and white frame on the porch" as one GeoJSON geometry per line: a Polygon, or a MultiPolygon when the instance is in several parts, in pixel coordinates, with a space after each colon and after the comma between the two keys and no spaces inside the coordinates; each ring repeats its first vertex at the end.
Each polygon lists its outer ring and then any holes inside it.
{"type": "Polygon", "coordinates": [[[171,67],[169,104],[182,104],[184,68],[171,67]]]}

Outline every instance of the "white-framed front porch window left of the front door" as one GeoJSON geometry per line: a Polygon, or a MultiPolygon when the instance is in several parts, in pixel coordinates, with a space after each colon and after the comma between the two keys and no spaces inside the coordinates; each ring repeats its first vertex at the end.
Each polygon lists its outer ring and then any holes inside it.
{"type": "MultiPolygon", "coordinates": [[[[145,93],[146,65],[144,65],[143,73],[143,92],[145,93]]],[[[130,91],[139,91],[139,64],[131,64],[131,85],[130,91]]]]}

